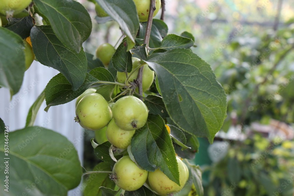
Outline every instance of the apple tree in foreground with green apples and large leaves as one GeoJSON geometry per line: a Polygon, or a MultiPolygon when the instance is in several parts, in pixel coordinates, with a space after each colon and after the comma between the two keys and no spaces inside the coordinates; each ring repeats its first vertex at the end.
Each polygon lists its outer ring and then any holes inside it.
{"type": "MultiPolygon", "coordinates": [[[[82,47],[92,23],[77,1],[1,1],[0,86],[14,96],[32,55],[60,71],[31,106],[25,128],[8,132],[0,119],[0,154],[10,163],[10,189],[1,188],[1,195],[67,195],[82,176],[86,196],[171,196],[185,184],[203,195],[201,170],[188,160],[198,151],[197,137],[213,142],[227,103],[210,65],[191,50],[195,38],[186,31],[168,34],[164,0],[91,1],[100,25],[114,20],[123,32],[117,48],[106,44],[96,57],[82,47]],[[153,19],[160,9],[161,19],[153,19]],[[50,112],[76,98],[75,120],[107,136],[89,141],[101,160],[93,171],[81,167],[64,136],[33,126],[44,100],[42,109],[50,112]],[[24,147],[26,137],[33,139],[24,147]],[[71,150],[60,158],[64,149],[71,150]],[[36,176],[44,180],[26,192],[36,176]]],[[[0,179],[5,186],[6,176],[0,179]]]]}

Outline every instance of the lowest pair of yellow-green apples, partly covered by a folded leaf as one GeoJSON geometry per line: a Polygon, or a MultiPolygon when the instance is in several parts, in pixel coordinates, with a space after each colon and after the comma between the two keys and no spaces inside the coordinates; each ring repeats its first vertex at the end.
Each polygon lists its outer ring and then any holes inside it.
{"type": "Polygon", "coordinates": [[[145,183],[158,195],[174,195],[184,187],[189,178],[188,167],[176,157],[180,174],[180,186],[170,180],[160,169],[148,172],[139,167],[129,156],[123,156],[113,166],[111,179],[126,191],[139,189],[145,183]]]}

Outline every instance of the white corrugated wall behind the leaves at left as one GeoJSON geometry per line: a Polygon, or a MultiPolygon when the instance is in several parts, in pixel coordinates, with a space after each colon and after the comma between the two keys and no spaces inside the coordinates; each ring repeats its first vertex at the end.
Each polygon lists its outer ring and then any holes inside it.
{"type": "MultiPolygon", "coordinates": [[[[31,67],[25,72],[20,91],[13,96],[11,101],[9,90],[0,88],[0,117],[5,125],[9,126],[10,131],[24,128],[29,108],[44,90],[49,80],[58,73],[59,71],[34,61],[31,67]],[[7,108],[9,108],[9,110],[7,110],[7,108]]],[[[34,125],[54,130],[66,136],[69,141],[74,143],[79,158],[82,161],[83,130],[74,122],[75,101],[52,106],[48,110],[48,113],[44,111],[45,107],[46,104],[44,101],[34,125]]],[[[68,195],[78,196],[81,195],[80,192],[81,191],[76,188],[71,190],[68,195]]]]}

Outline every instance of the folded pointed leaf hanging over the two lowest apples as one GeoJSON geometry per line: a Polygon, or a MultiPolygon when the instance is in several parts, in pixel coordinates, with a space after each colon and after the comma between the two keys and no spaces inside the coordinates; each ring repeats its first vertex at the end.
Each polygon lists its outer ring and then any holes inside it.
{"type": "Polygon", "coordinates": [[[160,168],[169,179],[180,184],[173,143],[159,115],[149,114],[147,123],[136,130],[131,151],[144,170],[153,172],[160,168]]]}

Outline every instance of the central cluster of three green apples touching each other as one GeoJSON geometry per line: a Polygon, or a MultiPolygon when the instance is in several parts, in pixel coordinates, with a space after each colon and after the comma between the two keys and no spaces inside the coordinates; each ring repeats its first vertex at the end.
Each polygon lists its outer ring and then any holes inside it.
{"type": "Polygon", "coordinates": [[[115,103],[107,103],[102,95],[88,89],[76,105],[75,120],[88,130],[96,131],[96,140],[107,140],[118,149],[126,149],[136,129],[146,124],[148,108],[135,96],[124,96],[115,103]],[[105,138],[106,135],[106,138],[105,138]]]}

